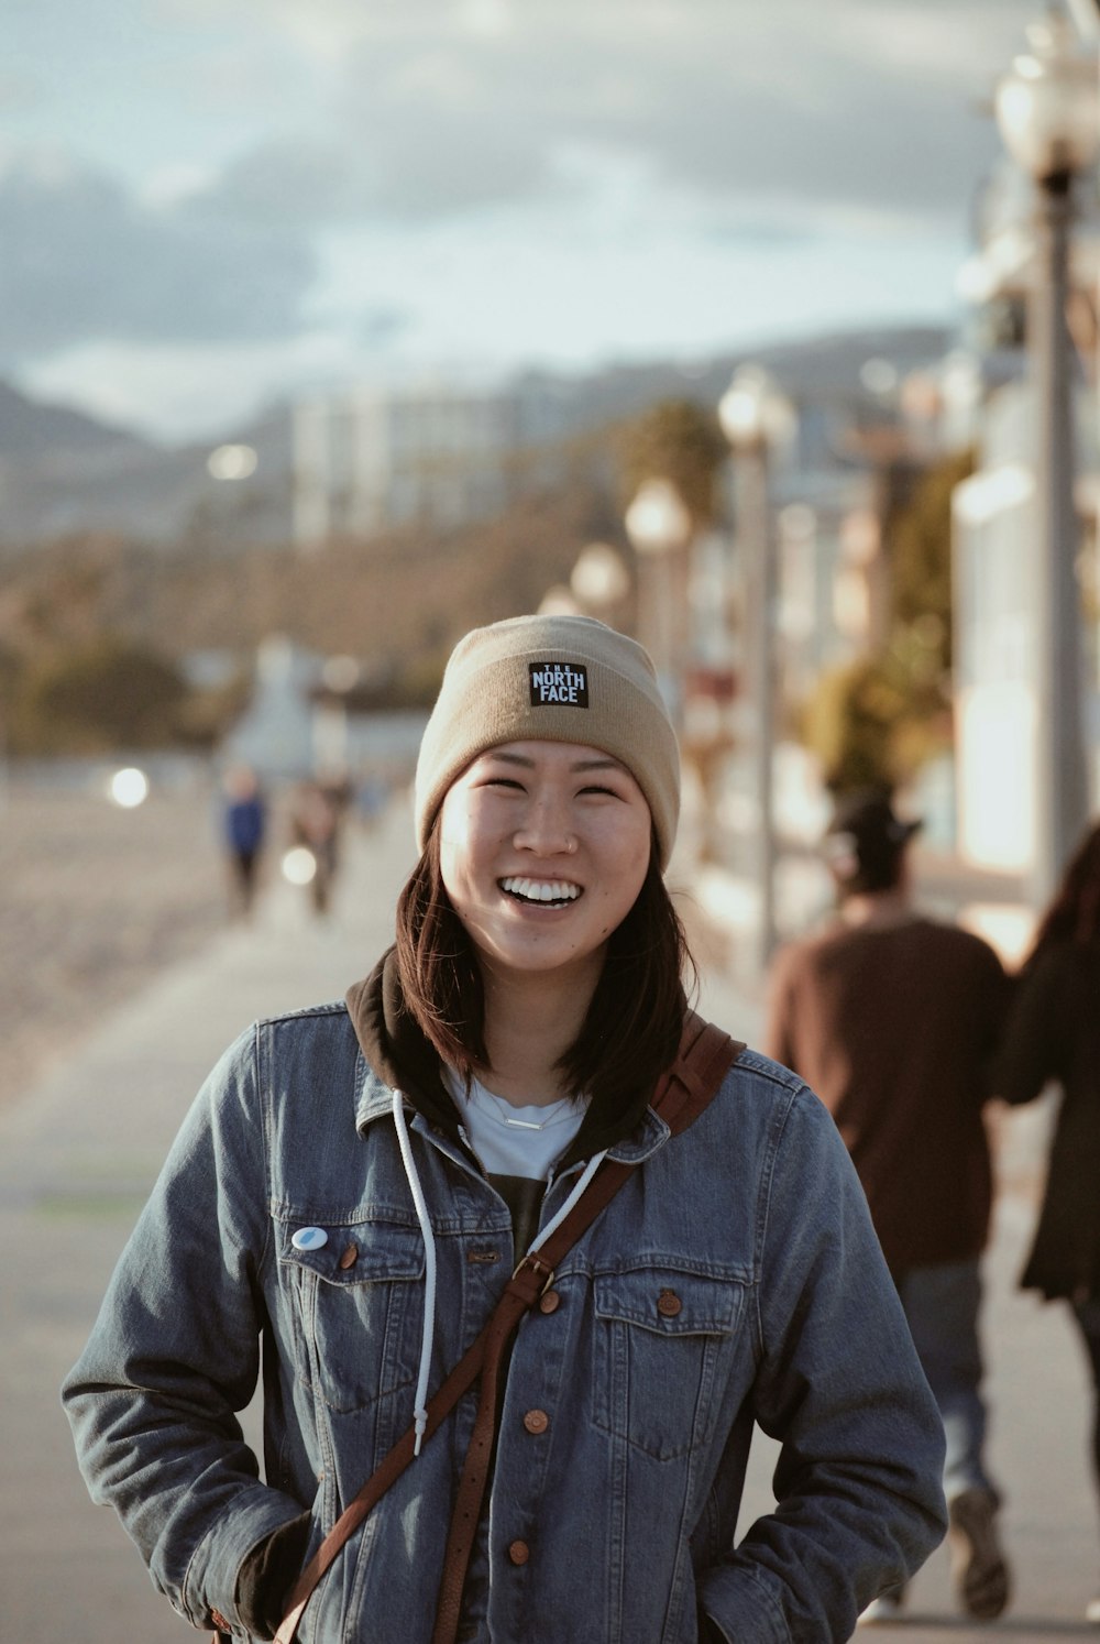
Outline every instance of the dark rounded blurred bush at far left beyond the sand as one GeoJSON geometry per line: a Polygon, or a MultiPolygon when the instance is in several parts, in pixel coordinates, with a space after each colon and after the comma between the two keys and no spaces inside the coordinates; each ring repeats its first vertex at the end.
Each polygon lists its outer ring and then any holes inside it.
{"type": "Polygon", "coordinates": [[[20,753],[155,748],[179,737],[186,686],[153,651],[115,636],[54,651],[23,674],[12,741],[20,753]]]}

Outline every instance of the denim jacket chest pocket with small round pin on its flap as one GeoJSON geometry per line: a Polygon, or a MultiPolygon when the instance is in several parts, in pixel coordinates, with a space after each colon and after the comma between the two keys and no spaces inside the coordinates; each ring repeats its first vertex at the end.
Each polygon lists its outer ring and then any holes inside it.
{"type": "Polygon", "coordinates": [[[286,1223],[280,1240],[301,1376],[324,1402],[360,1411],[416,1381],[424,1304],[419,1230],[286,1223]],[[298,1248],[294,1235],[312,1248],[298,1248]]]}

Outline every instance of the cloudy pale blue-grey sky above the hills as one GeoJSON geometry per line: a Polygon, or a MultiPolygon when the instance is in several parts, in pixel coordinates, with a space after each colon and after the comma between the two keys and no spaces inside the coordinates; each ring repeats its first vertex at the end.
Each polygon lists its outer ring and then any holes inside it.
{"type": "Polygon", "coordinates": [[[350,376],[950,319],[1039,0],[8,0],[0,376],[163,439],[350,376]]]}

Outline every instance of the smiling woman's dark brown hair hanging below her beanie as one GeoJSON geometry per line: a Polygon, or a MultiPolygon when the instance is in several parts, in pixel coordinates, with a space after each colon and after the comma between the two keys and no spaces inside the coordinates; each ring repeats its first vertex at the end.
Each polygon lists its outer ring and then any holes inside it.
{"type": "MultiPolygon", "coordinates": [[[[442,883],[437,824],[398,899],[396,935],[406,1009],[444,1062],[464,1077],[487,1072],[482,972],[442,883]]],[[[676,1060],[686,977],[694,986],[696,965],[653,843],[635,904],[608,937],[580,1032],[557,1064],[569,1090],[587,1093],[605,1121],[626,1113],[676,1060]]]]}

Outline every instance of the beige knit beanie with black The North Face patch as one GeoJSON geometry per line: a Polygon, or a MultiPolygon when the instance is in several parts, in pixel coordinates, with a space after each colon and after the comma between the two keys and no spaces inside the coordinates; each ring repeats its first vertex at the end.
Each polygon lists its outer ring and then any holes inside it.
{"type": "Polygon", "coordinates": [[[501,741],[575,741],[620,760],[649,804],[668,866],[679,750],[656,672],[635,640],[592,616],[511,616],[451,653],[416,763],[416,843],[472,760],[501,741]]]}

